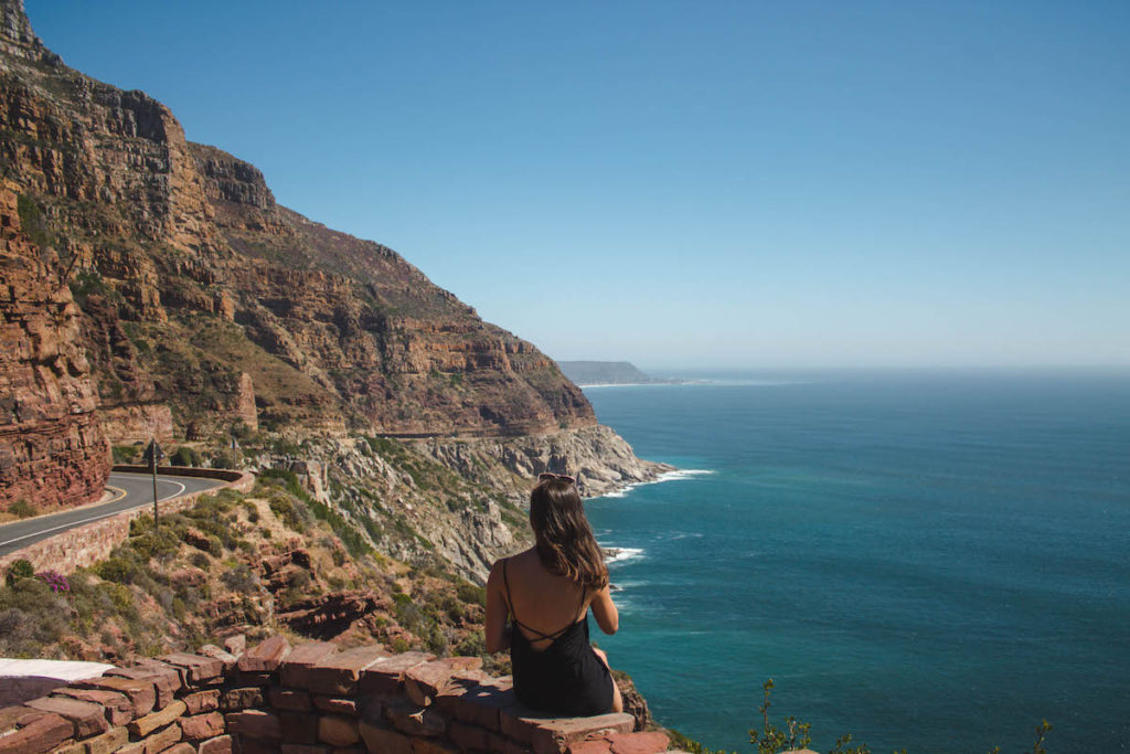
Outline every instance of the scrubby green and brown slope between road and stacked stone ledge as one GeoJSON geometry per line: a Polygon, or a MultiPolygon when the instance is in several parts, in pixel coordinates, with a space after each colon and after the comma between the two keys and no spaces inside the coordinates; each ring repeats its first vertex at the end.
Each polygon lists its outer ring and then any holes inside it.
{"type": "Polygon", "coordinates": [[[233,633],[481,653],[481,588],[338,530],[355,531],[284,473],[251,496],[202,496],[159,528],[137,518],[107,558],[66,577],[17,561],[0,586],[0,656],[119,661],[233,633]]]}

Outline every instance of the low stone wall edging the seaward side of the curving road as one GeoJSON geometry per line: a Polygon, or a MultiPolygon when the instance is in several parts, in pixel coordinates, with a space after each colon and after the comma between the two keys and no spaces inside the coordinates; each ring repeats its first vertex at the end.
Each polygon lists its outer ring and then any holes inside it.
{"type": "MultiPolygon", "coordinates": [[[[147,471],[142,466],[115,466],[118,471],[147,471]]],[[[255,478],[251,474],[241,471],[227,471],[223,469],[195,469],[183,467],[162,467],[165,474],[176,474],[180,476],[211,477],[224,479],[225,484],[214,489],[195,492],[159,503],[160,513],[172,513],[191,508],[195,504],[200,495],[215,494],[219,489],[231,487],[245,492],[255,484],[255,478]]],[[[0,571],[6,569],[14,561],[26,560],[32,563],[36,571],[51,569],[60,573],[71,573],[78,567],[88,567],[98,561],[110,556],[110,551],[129,537],[130,521],[139,515],[150,515],[153,506],[139,508],[132,511],[122,511],[113,515],[92,521],[75,529],[61,531],[53,537],[41,539],[15,553],[0,556],[0,571]]],[[[98,515],[90,512],[92,518],[98,515]]]]}

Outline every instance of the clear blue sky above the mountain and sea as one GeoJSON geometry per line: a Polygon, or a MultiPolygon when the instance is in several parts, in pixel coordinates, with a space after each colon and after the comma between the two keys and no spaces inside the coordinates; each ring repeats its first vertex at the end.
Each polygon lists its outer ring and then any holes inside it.
{"type": "Polygon", "coordinates": [[[1130,365],[1130,3],[28,0],[556,358],[1130,365]]]}

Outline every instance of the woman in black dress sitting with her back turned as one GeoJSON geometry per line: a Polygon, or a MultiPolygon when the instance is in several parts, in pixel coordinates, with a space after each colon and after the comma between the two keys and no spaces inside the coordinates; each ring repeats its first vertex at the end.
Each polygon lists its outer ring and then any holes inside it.
{"type": "Polygon", "coordinates": [[[607,634],[616,633],[619,615],[573,477],[538,477],[530,526],[534,546],[490,569],[487,651],[510,649],[514,693],[529,708],[562,716],[621,712],[608,657],[589,643],[589,607],[607,634]]]}

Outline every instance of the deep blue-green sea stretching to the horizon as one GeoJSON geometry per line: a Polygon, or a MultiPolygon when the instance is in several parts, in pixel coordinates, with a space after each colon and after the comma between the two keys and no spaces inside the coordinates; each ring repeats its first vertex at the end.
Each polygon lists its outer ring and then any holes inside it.
{"type": "MultiPolygon", "coordinates": [[[[704,378],[710,375],[695,375],[704,378]]],[[[590,501],[657,718],[886,754],[1130,752],[1130,374],[851,372],[589,388],[642,458],[590,501]]]]}

